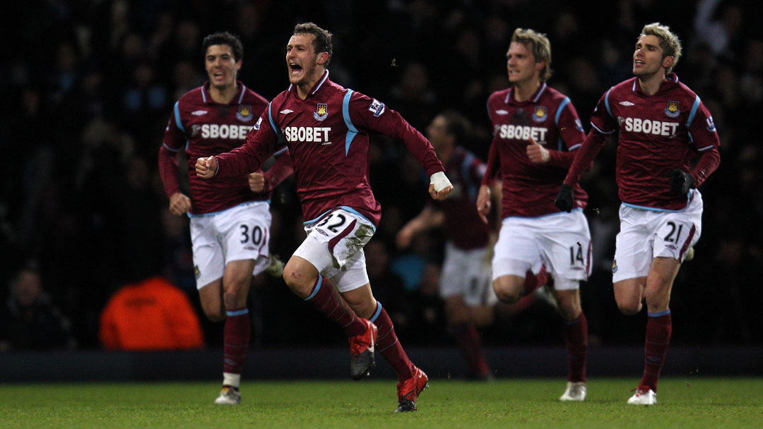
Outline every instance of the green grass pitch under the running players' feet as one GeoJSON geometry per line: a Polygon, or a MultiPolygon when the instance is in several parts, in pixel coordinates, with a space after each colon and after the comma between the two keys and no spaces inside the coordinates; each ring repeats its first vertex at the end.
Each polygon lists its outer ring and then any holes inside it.
{"type": "Polygon", "coordinates": [[[217,383],[0,385],[0,427],[763,427],[763,379],[662,379],[658,404],[626,405],[637,379],[432,379],[419,411],[395,415],[393,380],[249,381],[239,406],[217,383]]]}

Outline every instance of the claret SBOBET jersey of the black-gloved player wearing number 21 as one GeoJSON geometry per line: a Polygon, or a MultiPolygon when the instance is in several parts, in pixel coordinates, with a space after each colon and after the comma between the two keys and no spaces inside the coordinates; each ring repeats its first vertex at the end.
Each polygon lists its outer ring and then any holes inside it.
{"type": "Polygon", "coordinates": [[[671,192],[668,173],[690,171],[698,152],[720,146],[713,117],[699,96],[674,73],[667,78],[654,95],[645,94],[637,78],[613,86],[591,117],[600,133],[619,133],[617,186],[627,205],[684,209],[687,196],[671,192]]]}

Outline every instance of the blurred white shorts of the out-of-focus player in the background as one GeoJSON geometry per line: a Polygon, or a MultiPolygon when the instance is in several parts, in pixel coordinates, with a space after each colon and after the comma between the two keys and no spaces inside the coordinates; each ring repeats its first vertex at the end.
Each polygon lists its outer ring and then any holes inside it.
{"type": "Polygon", "coordinates": [[[467,306],[497,303],[491,286],[488,248],[464,250],[452,242],[445,245],[445,261],[439,277],[439,296],[462,295],[467,306]]]}

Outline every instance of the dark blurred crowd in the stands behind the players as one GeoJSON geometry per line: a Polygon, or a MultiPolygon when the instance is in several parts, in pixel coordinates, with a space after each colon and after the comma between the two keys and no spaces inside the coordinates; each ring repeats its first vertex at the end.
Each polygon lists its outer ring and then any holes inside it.
{"type": "MultiPolygon", "coordinates": [[[[588,3],[14,2],[0,80],[0,351],[102,347],[99,319],[110,296],[155,275],[185,292],[201,315],[188,219],[169,213],[157,169],[164,127],[175,101],[206,80],[205,35],[238,34],[240,79],[270,99],[288,85],[285,44],[305,21],[334,34],[333,81],[384,101],[422,132],[439,112],[458,110],[472,122],[461,144],[483,160],[491,142],[485,104],[507,86],[514,28],[548,34],[549,85],[568,94],[588,131],[600,95],[631,77],[642,26],[668,24],[684,44],[675,72],[712,112],[722,157],[701,189],[696,257],[675,282],[674,344],[761,344],[763,27],[745,14],[755,2],[588,3]]],[[[609,142],[582,181],[594,239],[594,271],[581,288],[591,344],[643,341],[643,321],[620,315],[612,292],[616,147],[609,142]]],[[[406,344],[449,344],[436,293],[442,232],[418,237],[406,251],[394,244],[427,202],[428,179],[400,142],[374,137],[370,156],[383,210],[365,248],[375,295],[406,344]]],[[[291,179],[275,191],[272,212],[271,251],[285,260],[304,237],[291,179]]],[[[250,295],[254,347],[346,341],[280,279],[258,278],[250,295]]],[[[550,333],[559,330],[544,326],[561,322],[541,301],[502,314],[483,332],[486,344],[558,344],[550,333]]],[[[207,345],[219,347],[221,335],[212,333],[221,325],[201,325],[207,345]]]]}

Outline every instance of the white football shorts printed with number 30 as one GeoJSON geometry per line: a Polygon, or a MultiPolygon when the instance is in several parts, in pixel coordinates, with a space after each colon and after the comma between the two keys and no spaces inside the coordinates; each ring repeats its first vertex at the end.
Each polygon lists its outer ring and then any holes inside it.
{"type": "Polygon", "coordinates": [[[270,204],[250,201],[216,213],[191,216],[196,288],[223,277],[230,261],[253,259],[252,275],[270,265],[270,204]]]}

